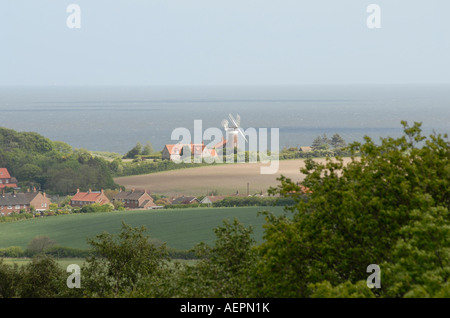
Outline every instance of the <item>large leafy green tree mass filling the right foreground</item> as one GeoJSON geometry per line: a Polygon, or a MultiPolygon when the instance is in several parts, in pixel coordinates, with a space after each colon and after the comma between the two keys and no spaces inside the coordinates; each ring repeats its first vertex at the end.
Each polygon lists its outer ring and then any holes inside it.
{"type": "MultiPolygon", "coordinates": [[[[308,297],[324,281],[354,288],[367,278],[369,264],[392,273],[375,294],[448,293],[450,143],[447,135],[422,136],[420,123],[402,124],[400,138],[351,144],[347,165],[342,158],[306,160],[308,199],[293,197],[297,204],[286,214],[266,215],[259,297],[308,297]]],[[[280,181],[270,193],[300,191],[287,178],[280,181]]]]}

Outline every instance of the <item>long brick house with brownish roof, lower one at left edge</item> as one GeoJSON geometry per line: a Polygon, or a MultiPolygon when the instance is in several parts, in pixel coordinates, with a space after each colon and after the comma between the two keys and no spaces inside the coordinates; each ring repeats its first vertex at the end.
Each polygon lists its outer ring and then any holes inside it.
{"type": "Polygon", "coordinates": [[[30,212],[31,207],[38,212],[45,211],[49,209],[50,204],[51,201],[45,192],[36,191],[36,188],[25,193],[18,193],[15,190],[12,193],[5,193],[3,190],[0,196],[0,215],[19,213],[20,210],[30,212]]]}

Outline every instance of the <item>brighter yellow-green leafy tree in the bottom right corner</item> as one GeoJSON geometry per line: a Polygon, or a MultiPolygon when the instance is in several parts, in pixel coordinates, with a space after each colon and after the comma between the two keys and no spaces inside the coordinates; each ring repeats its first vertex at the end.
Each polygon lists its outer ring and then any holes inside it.
{"type": "Polygon", "coordinates": [[[411,212],[392,260],[382,266],[386,297],[450,296],[450,213],[444,207],[411,212]]]}

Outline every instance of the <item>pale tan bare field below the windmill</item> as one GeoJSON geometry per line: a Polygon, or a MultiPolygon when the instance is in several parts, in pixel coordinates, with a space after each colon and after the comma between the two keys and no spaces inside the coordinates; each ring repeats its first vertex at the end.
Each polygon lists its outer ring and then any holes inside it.
{"type": "MultiPolygon", "coordinates": [[[[324,162],[325,159],[314,159],[324,162]]],[[[345,158],[344,162],[350,161],[345,158]]],[[[249,183],[250,194],[263,191],[271,186],[277,186],[276,180],[281,174],[294,181],[305,177],[300,168],[305,166],[304,159],[280,160],[276,174],[261,174],[261,166],[267,164],[242,163],[223,164],[218,166],[202,166],[198,168],[164,171],[139,176],[115,178],[117,184],[127,189],[147,189],[152,193],[164,195],[205,195],[209,190],[217,190],[219,194],[234,194],[239,191],[247,193],[249,183]]]]}

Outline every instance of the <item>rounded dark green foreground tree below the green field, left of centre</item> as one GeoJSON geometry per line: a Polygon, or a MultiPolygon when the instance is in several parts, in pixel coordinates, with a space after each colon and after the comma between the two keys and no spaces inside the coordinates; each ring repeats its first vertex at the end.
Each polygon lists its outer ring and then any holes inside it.
{"type": "Polygon", "coordinates": [[[161,274],[168,260],[166,246],[156,246],[145,231],[145,227],[133,228],[122,222],[119,234],[103,233],[88,239],[92,254],[82,269],[87,296],[127,296],[161,274]]]}

